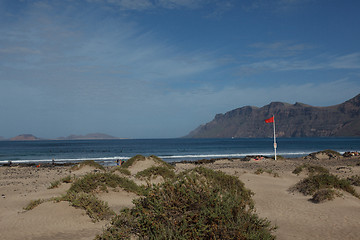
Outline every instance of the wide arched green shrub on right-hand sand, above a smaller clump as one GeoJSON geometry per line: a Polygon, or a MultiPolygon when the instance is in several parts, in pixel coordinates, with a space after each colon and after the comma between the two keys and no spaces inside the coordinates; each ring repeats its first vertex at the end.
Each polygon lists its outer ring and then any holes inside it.
{"type": "Polygon", "coordinates": [[[341,189],[359,198],[359,195],[350,185],[349,181],[345,179],[339,179],[337,176],[328,173],[309,176],[298,182],[294,186],[293,190],[297,190],[304,195],[312,195],[317,190],[324,188],[341,189]]]}

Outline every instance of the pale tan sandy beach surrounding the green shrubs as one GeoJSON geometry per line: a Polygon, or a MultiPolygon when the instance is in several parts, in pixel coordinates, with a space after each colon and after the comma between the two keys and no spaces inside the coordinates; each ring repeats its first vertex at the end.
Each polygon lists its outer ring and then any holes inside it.
{"type": "MultiPolygon", "coordinates": [[[[330,173],[342,178],[360,175],[360,158],[340,159],[218,159],[201,164],[213,170],[238,177],[254,192],[256,212],[268,218],[278,229],[277,239],[359,239],[360,199],[347,192],[324,203],[309,201],[311,196],[291,192],[289,188],[306,177],[292,171],[304,163],[323,166],[330,173]],[[266,172],[256,174],[258,169],[266,172]]],[[[130,169],[134,174],[150,167],[151,162],[130,169]]],[[[177,163],[175,172],[199,166],[192,163],[177,163]]],[[[108,167],[110,168],[116,167],[108,167]]],[[[93,167],[71,170],[70,166],[2,166],[0,167],[0,232],[2,239],[94,239],[101,234],[109,220],[92,221],[85,211],[74,208],[66,201],[45,201],[32,210],[24,210],[30,201],[65,195],[71,183],[62,183],[58,188],[48,189],[50,184],[67,176],[81,176],[99,171],[93,167]]],[[[155,182],[161,182],[156,179],[155,182]]],[[[360,187],[355,187],[360,193],[360,187]]],[[[99,199],[108,203],[116,213],[132,207],[136,194],[122,189],[102,192],[99,199]]]]}

